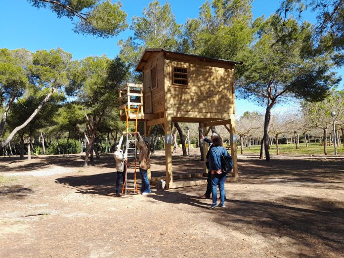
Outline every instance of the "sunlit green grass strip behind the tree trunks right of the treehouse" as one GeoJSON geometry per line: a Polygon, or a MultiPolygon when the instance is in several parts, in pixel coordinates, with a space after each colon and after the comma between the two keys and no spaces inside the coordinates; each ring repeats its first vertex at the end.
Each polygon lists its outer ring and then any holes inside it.
{"type": "MultiPolygon", "coordinates": [[[[300,143],[300,149],[296,149],[296,144],[279,144],[279,155],[290,156],[309,156],[309,155],[324,155],[324,145],[320,143],[309,143],[308,148],[305,143],[300,143]]],[[[244,155],[259,155],[260,146],[251,146],[251,149],[244,148],[244,155]]],[[[276,145],[270,145],[269,153],[271,156],[276,156],[276,145]]],[[[337,147],[337,153],[339,155],[344,154],[343,144],[337,147]]],[[[238,154],[240,154],[240,145],[238,145],[238,154]]],[[[333,145],[327,146],[327,155],[334,155],[335,147],[333,145]]]]}

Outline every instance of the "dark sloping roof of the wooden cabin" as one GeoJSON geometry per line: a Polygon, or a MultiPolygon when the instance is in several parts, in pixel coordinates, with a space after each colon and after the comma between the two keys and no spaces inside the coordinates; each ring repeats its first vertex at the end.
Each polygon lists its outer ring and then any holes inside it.
{"type": "Polygon", "coordinates": [[[192,54],[184,54],[184,53],[178,53],[178,52],[173,52],[173,51],[168,51],[164,50],[164,48],[146,48],[144,51],[143,55],[141,56],[140,61],[138,62],[135,71],[136,72],[142,72],[144,64],[148,61],[149,57],[151,56],[152,53],[154,52],[164,52],[164,53],[173,53],[177,54],[183,57],[190,57],[190,58],[200,58],[201,61],[205,63],[212,63],[212,64],[229,64],[229,65],[241,65],[243,62],[234,62],[234,61],[228,61],[224,59],[216,59],[216,58],[211,58],[207,56],[202,56],[202,55],[192,55],[192,54]]]}

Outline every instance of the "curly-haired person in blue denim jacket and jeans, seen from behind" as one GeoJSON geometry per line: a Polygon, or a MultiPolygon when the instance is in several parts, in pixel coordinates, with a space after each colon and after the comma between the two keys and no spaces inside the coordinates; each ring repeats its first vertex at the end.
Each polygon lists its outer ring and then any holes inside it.
{"type": "Polygon", "coordinates": [[[209,155],[209,172],[212,174],[212,195],[213,195],[213,204],[209,209],[214,209],[215,207],[225,207],[225,190],[224,190],[224,181],[226,180],[226,173],[223,173],[221,170],[221,154],[224,154],[230,159],[230,165],[233,167],[233,161],[230,157],[228,151],[222,146],[222,139],[219,136],[213,137],[214,147],[210,150],[209,155]],[[216,186],[220,190],[220,204],[217,204],[217,190],[216,186]]]}

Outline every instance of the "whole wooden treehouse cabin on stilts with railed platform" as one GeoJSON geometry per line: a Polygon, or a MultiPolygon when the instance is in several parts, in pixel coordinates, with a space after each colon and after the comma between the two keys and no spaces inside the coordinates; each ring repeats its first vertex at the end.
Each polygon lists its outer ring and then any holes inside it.
{"type": "MultiPolygon", "coordinates": [[[[212,126],[225,126],[230,133],[234,179],[238,177],[233,83],[237,64],[242,63],[148,48],[135,69],[142,73],[143,86],[128,84],[121,89],[121,109],[142,107],[138,121],[144,121],[145,137],[149,137],[154,125],[162,125],[165,130],[167,188],[192,185],[173,182],[172,122],[202,123],[204,135],[212,126]]],[[[124,111],[121,120],[126,120],[124,111]]],[[[204,149],[206,155],[208,144],[204,149]]],[[[205,162],[204,170],[207,172],[205,162]]]]}

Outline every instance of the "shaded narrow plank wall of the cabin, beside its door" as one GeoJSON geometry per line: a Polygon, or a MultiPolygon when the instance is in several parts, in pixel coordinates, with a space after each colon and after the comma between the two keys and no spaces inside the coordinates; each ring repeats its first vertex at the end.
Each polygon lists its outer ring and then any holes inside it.
{"type": "MultiPolygon", "coordinates": [[[[163,53],[152,53],[149,57],[147,63],[144,65],[143,73],[151,74],[150,70],[156,66],[157,67],[157,87],[153,88],[151,91],[152,94],[152,113],[158,114],[160,112],[164,112],[165,109],[165,78],[164,78],[164,58],[163,53]]],[[[147,82],[151,82],[151,80],[145,80],[147,82]]],[[[143,84],[145,87],[145,84],[143,84]]]]}

